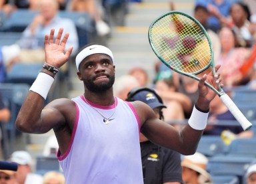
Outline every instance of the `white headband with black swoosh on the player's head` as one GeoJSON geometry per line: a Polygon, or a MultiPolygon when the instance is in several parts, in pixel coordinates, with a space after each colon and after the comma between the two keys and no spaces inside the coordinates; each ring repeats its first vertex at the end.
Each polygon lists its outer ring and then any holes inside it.
{"type": "Polygon", "coordinates": [[[77,54],[75,58],[75,64],[77,65],[77,70],[79,68],[79,64],[84,60],[84,58],[86,58],[87,56],[90,56],[91,54],[107,54],[108,56],[111,57],[112,62],[114,62],[113,53],[109,48],[102,45],[91,45],[91,46],[87,46],[77,54]]]}

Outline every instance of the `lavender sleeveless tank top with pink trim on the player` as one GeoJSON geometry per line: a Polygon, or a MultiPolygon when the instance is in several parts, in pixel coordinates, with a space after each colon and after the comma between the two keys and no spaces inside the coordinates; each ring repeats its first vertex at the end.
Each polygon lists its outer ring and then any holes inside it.
{"type": "Polygon", "coordinates": [[[77,114],[69,149],[58,152],[66,183],[139,184],[143,183],[139,145],[140,121],[129,102],[116,100],[115,114],[110,124],[93,110],[109,118],[112,106],[89,106],[83,96],[75,101],[77,114]]]}

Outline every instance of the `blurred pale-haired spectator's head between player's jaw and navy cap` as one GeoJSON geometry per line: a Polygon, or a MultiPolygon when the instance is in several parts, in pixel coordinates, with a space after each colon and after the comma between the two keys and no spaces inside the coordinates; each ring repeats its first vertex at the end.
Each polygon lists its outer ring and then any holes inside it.
{"type": "Polygon", "coordinates": [[[139,81],[131,75],[123,75],[117,77],[114,84],[114,94],[115,96],[125,100],[127,98],[127,94],[133,88],[139,87],[139,81]]]}

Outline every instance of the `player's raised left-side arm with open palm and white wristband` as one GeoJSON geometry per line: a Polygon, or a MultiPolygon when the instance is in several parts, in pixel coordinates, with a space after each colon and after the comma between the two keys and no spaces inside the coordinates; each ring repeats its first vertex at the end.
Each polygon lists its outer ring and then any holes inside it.
{"type": "MultiPolygon", "coordinates": [[[[69,33],[66,33],[61,40],[63,29],[59,29],[59,33],[53,41],[54,32],[55,30],[51,29],[50,35],[45,35],[45,64],[57,69],[67,62],[72,47],[68,48],[65,53],[69,33]]],[[[65,117],[65,112],[69,112],[67,107],[75,106],[71,100],[55,100],[43,109],[54,76],[55,72],[45,68],[39,73],[17,116],[15,122],[17,129],[39,134],[48,132],[51,128],[56,128],[56,126],[61,126],[61,123],[65,124],[67,122],[68,117],[65,117]]]]}

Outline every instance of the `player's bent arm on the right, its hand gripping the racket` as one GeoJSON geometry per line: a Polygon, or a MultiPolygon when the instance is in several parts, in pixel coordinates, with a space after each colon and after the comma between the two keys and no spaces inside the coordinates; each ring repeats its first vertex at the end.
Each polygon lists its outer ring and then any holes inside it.
{"type": "MultiPolygon", "coordinates": [[[[215,70],[217,71],[219,67],[220,65],[216,66],[215,70]]],[[[219,76],[213,76],[212,72],[203,75],[198,84],[199,98],[195,103],[191,118],[189,118],[189,124],[180,132],[173,126],[158,120],[149,106],[136,102],[134,106],[141,118],[141,132],[154,143],[169,147],[183,155],[195,153],[207,123],[209,104],[216,96],[215,92],[205,85],[206,80],[215,88],[221,81],[219,76]],[[217,80],[215,80],[216,78],[217,80]]]]}

